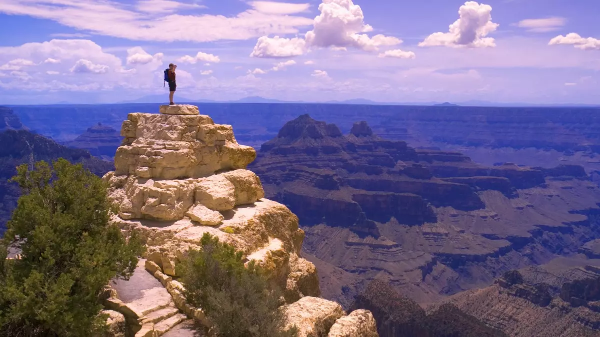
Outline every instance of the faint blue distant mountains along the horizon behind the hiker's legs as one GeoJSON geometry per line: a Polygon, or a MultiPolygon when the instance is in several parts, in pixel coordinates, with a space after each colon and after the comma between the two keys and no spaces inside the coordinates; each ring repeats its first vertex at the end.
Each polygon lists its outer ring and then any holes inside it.
{"type": "MultiPolygon", "coordinates": [[[[136,100],[121,101],[118,104],[123,103],[168,103],[167,95],[148,95],[137,98],[136,100]]],[[[365,98],[354,98],[352,100],[344,101],[284,101],[275,100],[271,98],[264,98],[260,96],[244,97],[239,100],[232,101],[215,101],[215,100],[197,100],[187,97],[175,97],[175,103],[320,103],[320,104],[363,104],[363,105],[379,105],[379,106],[446,106],[446,107],[458,107],[458,106],[471,106],[471,107],[600,107],[600,104],[575,104],[575,103],[564,103],[564,104],[535,104],[535,103],[497,103],[488,101],[464,101],[458,103],[449,102],[378,102],[373,100],[367,100],[365,98]]],[[[68,104],[61,102],[61,104],[68,104]]]]}

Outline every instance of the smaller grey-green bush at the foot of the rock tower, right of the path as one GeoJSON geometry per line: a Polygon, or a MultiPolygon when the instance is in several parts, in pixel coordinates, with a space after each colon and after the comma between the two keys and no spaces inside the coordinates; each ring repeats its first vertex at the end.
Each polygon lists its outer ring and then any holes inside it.
{"type": "Polygon", "coordinates": [[[202,250],[192,250],[181,264],[184,296],[202,308],[218,336],[294,337],[284,330],[285,316],[278,308],[281,291],[270,289],[262,269],[253,261],[244,266],[241,251],[208,233],[202,250]]]}

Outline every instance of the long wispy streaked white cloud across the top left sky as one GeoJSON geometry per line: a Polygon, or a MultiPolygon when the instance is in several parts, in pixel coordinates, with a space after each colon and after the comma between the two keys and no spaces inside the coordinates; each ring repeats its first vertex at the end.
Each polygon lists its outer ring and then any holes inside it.
{"type": "Polygon", "coordinates": [[[224,16],[190,11],[173,13],[194,8],[178,1],[147,0],[134,4],[137,6],[114,0],[2,0],[0,13],[53,20],[91,34],[164,42],[201,43],[297,34],[300,27],[312,23],[307,17],[263,13],[256,8],[224,16]]]}

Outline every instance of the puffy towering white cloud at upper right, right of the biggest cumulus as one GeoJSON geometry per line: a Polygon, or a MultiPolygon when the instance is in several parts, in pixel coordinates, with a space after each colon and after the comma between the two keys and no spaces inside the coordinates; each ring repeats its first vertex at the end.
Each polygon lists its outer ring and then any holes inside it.
{"type": "Polygon", "coordinates": [[[491,22],[491,6],[467,1],[458,9],[460,18],[450,25],[447,33],[436,32],[419,43],[419,47],[496,47],[494,38],[487,37],[498,28],[491,22]]]}

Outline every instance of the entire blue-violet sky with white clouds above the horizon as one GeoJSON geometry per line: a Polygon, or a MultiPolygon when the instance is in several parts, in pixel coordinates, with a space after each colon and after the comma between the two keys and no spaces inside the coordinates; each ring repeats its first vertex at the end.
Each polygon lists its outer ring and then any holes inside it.
{"type": "Polygon", "coordinates": [[[598,0],[0,0],[0,104],[600,104],[598,0]]]}

